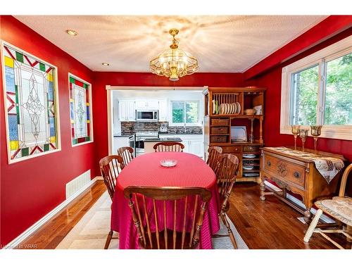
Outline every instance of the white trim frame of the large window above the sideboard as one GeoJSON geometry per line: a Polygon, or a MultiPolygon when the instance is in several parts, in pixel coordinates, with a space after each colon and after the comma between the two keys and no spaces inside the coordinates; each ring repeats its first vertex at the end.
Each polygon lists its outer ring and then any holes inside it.
{"type": "MultiPolygon", "coordinates": [[[[320,76],[325,73],[325,65],[327,61],[332,61],[334,58],[344,56],[352,52],[352,36],[346,37],[335,44],[327,46],[325,49],[311,54],[299,61],[291,63],[282,68],[282,86],[281,86],[281,112],[280,112],[280,134],[292,134],[290,125],[290,108],[291,108],[291,76],[299,70],[308,68],[315,64],[319,64],[320,76]]],[[[324,77],[319,80],[318,89],[318,108],[324,103],[325,97],[325,80],[324,77]]],[[[322,109],[317,109],[318,125],[321,125],[324,120],[322,109]],[[320,122],[320,123],[319,123],[320,122]]],[[[301,126],[302,128],[310,128],[308,125],[301,126]]],[[[346,139],[352,140],[352,125],[323,125],[322,134],[320,137],[329,139],[346,139]]]]}

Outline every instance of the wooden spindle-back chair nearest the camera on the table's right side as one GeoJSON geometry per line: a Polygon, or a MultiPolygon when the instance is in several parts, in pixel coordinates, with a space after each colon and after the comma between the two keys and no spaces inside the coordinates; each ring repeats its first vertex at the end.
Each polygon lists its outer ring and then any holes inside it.
{"type": "Polygon", "coordinates": [[[219,165],[215,170],[216,179],[220,194],[220,218],[227,228],[228,235],[232,241],[234,249],[237,249],[236,240],[227,221],[227,211],[230,209],[230,196],[234,182],[236,181],[237,170],[239,168],[239,159],[233,154],[222,154],[219,158],[219,165]]]}

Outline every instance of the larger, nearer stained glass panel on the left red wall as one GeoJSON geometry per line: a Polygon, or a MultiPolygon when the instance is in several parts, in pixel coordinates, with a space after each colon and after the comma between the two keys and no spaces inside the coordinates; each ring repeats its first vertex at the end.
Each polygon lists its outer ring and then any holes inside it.
{"type": "Polygon", "coordinates": [[[3,62],[9,162],[58,149],[56,68],[9,44],[3,62]]]}

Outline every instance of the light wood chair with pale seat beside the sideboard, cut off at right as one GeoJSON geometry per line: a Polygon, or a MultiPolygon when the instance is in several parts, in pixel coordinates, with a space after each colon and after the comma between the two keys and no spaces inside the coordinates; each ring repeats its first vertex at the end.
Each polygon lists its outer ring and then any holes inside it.
{"type": "Polygon", "coordinates": [[[315,213],[315,217],[313,218],[312,222],[310,222],[310,226],[306,232],[306,235],[303,238],[303,241],[309,242],[310,237],[312,237],[312,234],[314,232],[321,234],[322,237],[332,242],[332,244],[337,246],[337,248],[339,249],[344,249],[344,247],[338,244],[336,241],[332,240],[325,233],[344,234],[348,241],[352,241],[352,198],[345,196],[346,182],[348,175],[352,174],[351,171],[352,164],[348,165],[348,167],[344,171],[344,175],[342,175],[339,196],[332,197],[332,199],[326,199],[315,202],[315,206],[317,206],[318,210],[317,213],[315,213]],[[332,216],[332,218],[338,220],[341,223],[341,226],[346,225],[346,229],[342,228],[339,230],[322,230],[321,228],[315,228],[317,227],[319,218],[320,216],[322,216],[323,212],[332,216]]]}

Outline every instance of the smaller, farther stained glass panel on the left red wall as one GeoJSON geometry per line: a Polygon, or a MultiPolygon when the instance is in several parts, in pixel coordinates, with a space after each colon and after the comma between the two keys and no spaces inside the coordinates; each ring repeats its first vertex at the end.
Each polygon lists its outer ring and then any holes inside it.
{"type": "Polygon", "coordinates": [[[91,86],[77,77],[69,77],[70,123],[72,144],[92,141],[91,107],[89,92],[91,86]]]}

